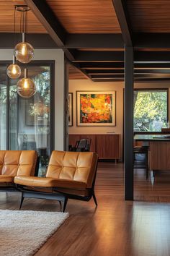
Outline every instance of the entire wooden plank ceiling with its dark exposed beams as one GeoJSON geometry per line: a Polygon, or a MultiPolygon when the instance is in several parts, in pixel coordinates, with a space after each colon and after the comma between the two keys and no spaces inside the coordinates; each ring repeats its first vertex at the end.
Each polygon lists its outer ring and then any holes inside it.
{"type": "MultiPolygon", "coordinates": [[[[31,8],[28,33],[49,33],[63,48],[75,67],[70,79],[123,81],[126,44],[135,49],[136,81],[170,80],[169,0],[0,1],[0,33],[14,33],[16,4],[31,8]]],[[[19,31],[19,13],[16,21],[19,31]]]]}

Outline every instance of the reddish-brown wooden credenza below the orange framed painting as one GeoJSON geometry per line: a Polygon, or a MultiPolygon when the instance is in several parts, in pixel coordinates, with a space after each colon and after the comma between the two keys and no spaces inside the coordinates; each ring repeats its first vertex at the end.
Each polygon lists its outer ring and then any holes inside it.
{"type": "Polygon", "coordinates": [[[69,135],[69,145],[75,145],[77,140],[91,139],[91,152],[96,152],[99,158],[120,159],[120,135],[69,135]]]}

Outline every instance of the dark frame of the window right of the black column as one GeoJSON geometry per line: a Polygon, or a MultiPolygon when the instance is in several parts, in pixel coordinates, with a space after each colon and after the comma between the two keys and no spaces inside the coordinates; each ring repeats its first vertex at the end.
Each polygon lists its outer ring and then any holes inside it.
{"type": "MultiPolygon", "coordinates": [[[[134,89],[134,91],[135,90],[138,90],[138,91],[143,91],[143,92],[147,92],[147,91],[152,91],[152,90],[159,90],[159,91],[162,91],[162,90],[165,90],[166,91],[166,95],[167,95],[167,106],[166,106],[166,108],[167,108],[167,121],[169,120],[169,88],[135,88],[134,89]]],[[[134,117],[134,111],[133,111],[133,117],[134,117]]],[[[134,127],[133,127],[133,129],[134,129],[134,127]]],[[[141,134],[143,134],[143,135],[148,135],[148,134],[161,134],[162,132],[134,132],[134,135],[141,135],[141,134]]]]}

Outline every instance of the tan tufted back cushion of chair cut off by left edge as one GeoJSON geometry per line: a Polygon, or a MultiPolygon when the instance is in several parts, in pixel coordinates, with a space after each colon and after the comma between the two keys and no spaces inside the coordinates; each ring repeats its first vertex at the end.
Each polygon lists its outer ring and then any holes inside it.
{"type": "Polygon", "coordinates": [[[35,150],[0,150],[0,174],[34,176],[37,162],[35,150]]]}

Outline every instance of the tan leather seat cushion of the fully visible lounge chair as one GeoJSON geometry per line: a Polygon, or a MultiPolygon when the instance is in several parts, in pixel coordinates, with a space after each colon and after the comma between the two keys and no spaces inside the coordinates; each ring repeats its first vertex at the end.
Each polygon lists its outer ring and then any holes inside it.
{"type": "Polygon", "coordinates": [[[14,179],[16,184],[29,187],[67,187],[70,189],[86,189],[86,183],[76,182],[68,179],[53,179],[32,176],[16,176],[14,179]]]}

